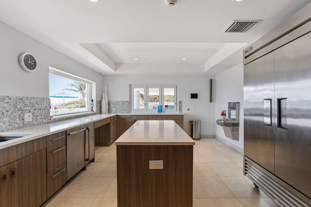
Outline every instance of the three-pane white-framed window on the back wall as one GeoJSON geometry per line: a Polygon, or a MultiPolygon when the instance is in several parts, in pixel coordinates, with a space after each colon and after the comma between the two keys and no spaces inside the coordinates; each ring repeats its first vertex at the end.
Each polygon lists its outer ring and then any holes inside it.
{"type": "Polygon", "coordinates": [[[177,111],[177,86],[130,85],[132,111],[177,111]]]}

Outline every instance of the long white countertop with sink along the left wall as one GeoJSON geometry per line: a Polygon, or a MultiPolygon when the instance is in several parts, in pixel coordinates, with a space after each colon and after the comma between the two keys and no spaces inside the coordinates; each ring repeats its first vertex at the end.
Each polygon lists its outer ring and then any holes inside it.
{"type": "Polygon", "coordinates": [[[23,128],[17,128],[9,131],[0,131],[0,136],[23,136],[21,138],[17,138],[14,140],[9,140],[0,143],[0,149],[13,146],[19,143],[28,142],[31,140],[35,140],[40,137],[44,137],[50,134],[54,134],[60,131],[67,130],[69,128],[73,127],[79,127],[84,124],[92,123],[95,121],[99,121],[101,119],[105,119],[111,116],[117,115],[115,113],[113,114],[97,114],[97,115],[90,115],[90,116],[84,116],[80,118],[75,119],[69,119],[65,121],[59,121],[59,122],[53,122],[50,124],[43,124],[43,125],[36,125],[33,127],[23,127],[23,128]]]}

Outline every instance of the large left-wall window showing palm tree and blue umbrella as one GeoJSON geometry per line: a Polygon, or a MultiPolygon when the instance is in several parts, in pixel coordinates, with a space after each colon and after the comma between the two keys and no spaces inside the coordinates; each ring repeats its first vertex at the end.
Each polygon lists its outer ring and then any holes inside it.
{"type": "Polygon", "coordinates": [[[51,116],[91,111],[91,81],[50,67],[51,116]]]}

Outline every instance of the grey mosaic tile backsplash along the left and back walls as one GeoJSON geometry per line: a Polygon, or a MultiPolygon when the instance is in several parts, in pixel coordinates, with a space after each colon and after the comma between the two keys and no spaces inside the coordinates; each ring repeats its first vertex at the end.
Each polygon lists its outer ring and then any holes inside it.
{"type": "MultiPolygon", "coordinates": [[[[101,103],[101,100],[95,102],[96,114],[101,113],[101,103]]],[[[178,104],[178,112],[182,113],[182,101],[179,101],[178,104]]],[[[130,101],[108,101],[108,113],[130,113],[130,101]]],[[[51,119],[49,97],[0,96],[0,131],[31,127],[93,114],[51,119]],[[33,120],[24,122],[24,113],[32,113],[33,120]]]]}

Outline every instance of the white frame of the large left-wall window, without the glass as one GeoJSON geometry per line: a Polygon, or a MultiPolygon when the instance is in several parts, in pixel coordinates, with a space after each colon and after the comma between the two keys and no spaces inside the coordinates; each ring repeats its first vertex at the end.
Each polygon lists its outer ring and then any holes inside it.
{"type": "MultiPolygon", "coordinates": [[[[81,77],[76,76],[76,75],[72,75],[70,73],[67,73],[65,71],[62,71],[62,70],[59,70],[59,69],[56,69],[53,67],[49,67],[49,75],[50,74],[60,76],[60,77],[66,78],[66,79],[70,79],[73,81],[80,81],[80,82],[86,83],[86,111],[69,112],[69,113],[62,113],[62,114],[51,114],[51,112],[50,112],[50,116],[52,116],[52,117],[74,116],[77,114],[91,112],[91,106],[90,105],[91,105],[91,96],[92,96],[92,84],[94,83],[93,81],[81,78],[81,77]]],[[[50,81],[50,79],[49,79],[49,81],[50,81]]],[[[49,95],[49,96],[51,96],[51,95],[49,95]]]]}

